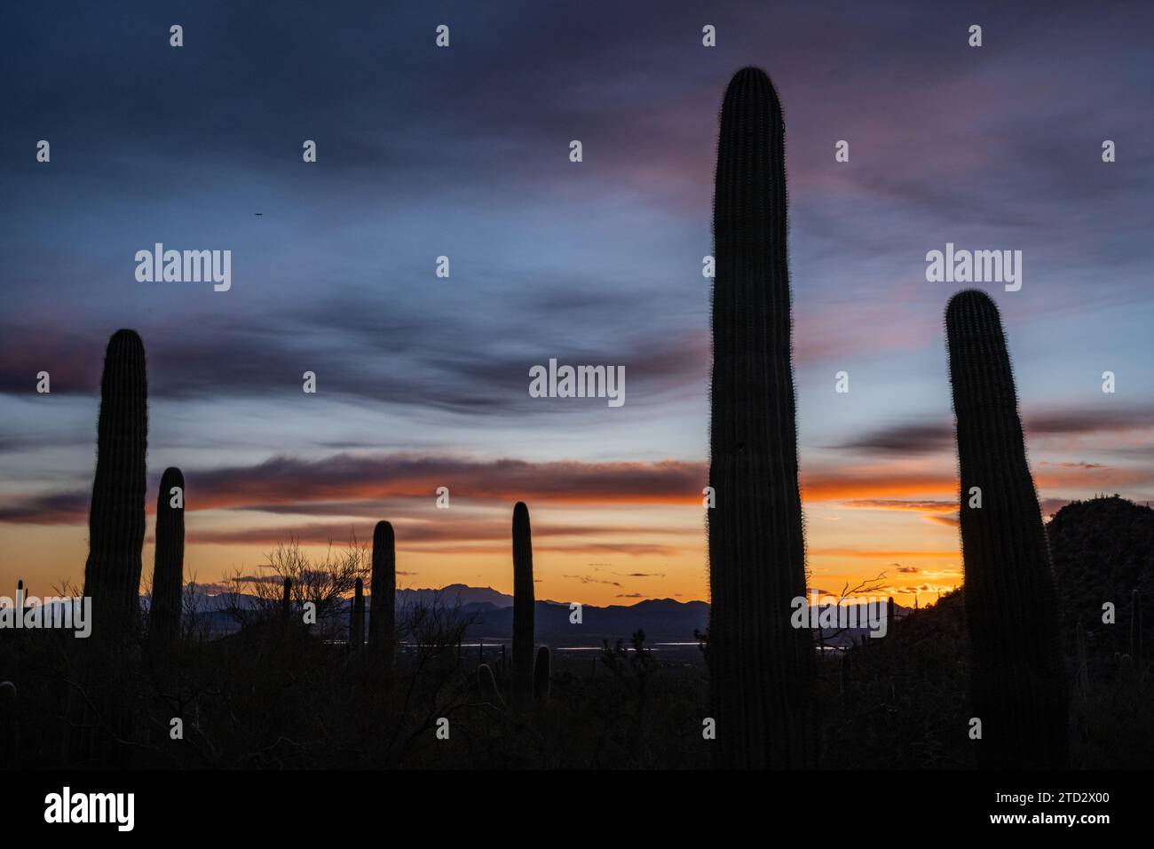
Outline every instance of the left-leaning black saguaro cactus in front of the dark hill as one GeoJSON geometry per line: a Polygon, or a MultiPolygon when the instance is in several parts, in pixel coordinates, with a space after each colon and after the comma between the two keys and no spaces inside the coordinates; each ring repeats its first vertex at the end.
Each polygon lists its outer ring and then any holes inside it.
{"type": "Polygon", "coordinates": [[[1002,320],[984,292],[945,312],[961,472],[971,694],[983,768],[1069,760],[1069,694],[1054,572],[1002,320]],[[980,505],[980,506],[979,506],[980,505]]]}

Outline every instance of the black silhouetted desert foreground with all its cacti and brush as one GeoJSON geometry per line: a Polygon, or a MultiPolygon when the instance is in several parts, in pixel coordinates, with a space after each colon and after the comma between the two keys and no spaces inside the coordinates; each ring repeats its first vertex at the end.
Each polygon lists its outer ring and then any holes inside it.
{"type": "MultiPolygon", "coordinates": [[[[182,490],[183,478],[174,468],[160,482],[152,593],[142,605],[144,349],[120,330],[102,379],[84,573],[93,638],[0,631],[0,767],[1154,762],[1154,678],[1142,631],[1142,599],[1154,590],[1154,513],[1101,498],[1064,507],[1043,528],[1001,320],[983,295],[957,296],[946,318],[962,500],[971,486],[983,497],[981,509],[961,512],[967,588],[904,616],[891,598],[886,635],[860,645],[827,645],[820,631],[790,627],[790,602],[807,581],[784,124],[763,72],[734,77],[721,125],[713,609],[707,633],[694,634],[699,653],[662,654],[642,630],[628,643],[624,635],[606,640],[595,656],[538,645],[523,502],[511,526],[509,657],[503,642],[489,646],[489,656],[485,646],[475,657],[466,650],[475,620],[459,602],[435,595],[397,604],[396,539],[384,521],[372,550],[353,536],[344,549],[330,544],[310,556],[290,539],[263,568],[238,569],[215,597],[237,626],[222,635],[204,588],[182,574],[185,507],[168,491],[182,490]],[[975,712],[988,745],[967,733],[975,712]],[[714,720],[715,738],[703,732],[714,720]]],[[[81,595],[70,587],[57,594],[81,595]]]]}

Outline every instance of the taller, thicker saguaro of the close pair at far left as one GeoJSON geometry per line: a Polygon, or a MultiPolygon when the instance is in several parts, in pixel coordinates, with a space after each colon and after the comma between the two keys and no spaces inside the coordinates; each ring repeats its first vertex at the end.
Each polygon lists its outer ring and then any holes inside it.
{"type": "Polygon", "coordinates": [[[144,343],[134,330],[108,340],[100,379],[96,479],[89,513],[84,595],[93,636],[127,630],[140,612],[148,447],[144,343]]]}

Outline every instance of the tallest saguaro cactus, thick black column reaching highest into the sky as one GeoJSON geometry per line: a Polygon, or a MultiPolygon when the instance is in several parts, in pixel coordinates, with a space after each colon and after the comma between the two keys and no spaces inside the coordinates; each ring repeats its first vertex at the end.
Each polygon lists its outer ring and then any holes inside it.
{"type": "Polygon", "coordinates": [[[785,125],[758,68],[725,92],[713,201],[709,653],[721,767],[814,765],[786,252],[785,125]]]}

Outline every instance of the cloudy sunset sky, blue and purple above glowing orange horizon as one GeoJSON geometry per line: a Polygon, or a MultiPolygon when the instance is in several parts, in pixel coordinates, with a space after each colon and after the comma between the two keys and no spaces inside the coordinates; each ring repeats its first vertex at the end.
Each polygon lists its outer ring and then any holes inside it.
{"type": "Polygon", "coordinates": [[[747,65],[786,118],[810,584],[961,582],[946,243],[1022,252],[1019,291],[980,288],[1043,515],[1151,499],[1154,12],[946,6],[5,3],[0,595],[83,580],[103,352],[132,327],[147,574],[178,466],[202,583],[387,519],[400,586],[511,591],[524,500],[538,598],[707,601],[702,268],[747,65]],[[231,289],[138,282],[156,243],[230,250],[231,289]],[[623,365],[625,403],[531,397],[550,358],[623,365]]]}

